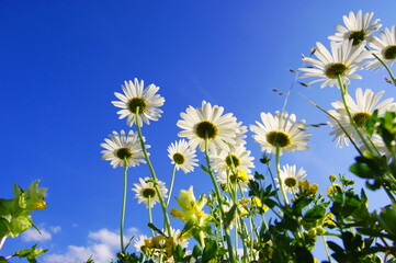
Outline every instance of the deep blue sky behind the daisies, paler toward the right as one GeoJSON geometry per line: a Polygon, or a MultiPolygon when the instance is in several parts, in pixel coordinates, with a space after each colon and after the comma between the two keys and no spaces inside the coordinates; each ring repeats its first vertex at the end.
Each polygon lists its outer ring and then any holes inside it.
{"type": "MultiPolygon", "coordinates": [[[[13,183],[27,187],[37,179],[49,188],[47,209],[34,214],[47,232],[39,245],[53,255],[43,262],[65,262],[61,256],[99,244],[114,251],[122,169],[101,160],[100,144],[112,130],[128,129],[111,104],[124,80],[155,83],[166,99],[160,121],[143,132],[158,176],[169,184],[167,147],[178,139],[180,112],[206,100],[253,124],[260,112],[282,110],[284,96],[271,89],[287,91],[294,79],[287,69],[302,67],[301,55],[309,55],[316,42],[328,46],[327,36],[342,24],[342,15],[373,11],[391,27],[395,8],[394,0],[0,0],[0,196],[11,197],[13,183]]],[[[385,89],[385,98],[395,96],[384,76],[365,73],[351,90],[385,89]]],[[[308,124],[326,117],[298,93],[325,108],[339,100],[336,88],[294,85],[286,110],[308,124]]],[[[337,149],[329,132],[312,128],[310,150],[283,159],[304,167],[323,191],[328,175],[347,172],[355,156],[353,149],[337,149]]],[[[248,144],[258,159],[251,133],[248,144]]],[[[257,170],[263,167],[257,163],[257,170]]],[[[138,176],[149,176],[147,167],[131,169],[129,188],[138,176]]],[[[177,174],[177,191],[191,184],[196,195],[211,188],[201,171],[177,174]]],[[[381,206],[384,195],[371,195],[373,206],[381,206]]],[[[147,211],[132,196],[126,228],[148,233],[147,211]]],[[[29,237],[9,239],[1,254],[33,244],[29,237]]]]}

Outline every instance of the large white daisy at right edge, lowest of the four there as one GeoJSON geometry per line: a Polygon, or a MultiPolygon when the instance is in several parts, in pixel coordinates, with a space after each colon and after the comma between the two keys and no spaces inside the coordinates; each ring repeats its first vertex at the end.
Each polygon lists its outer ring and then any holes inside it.
{"type": "MultiPolygon", "coordinates": [[[[387,99],[380,103],[380,100],[384,91],[380,91],[375,94],[372,90],[367,89],[364,91],[361,88],[355,91],[355,100],[352,99],[351,95],[347,94],[347,105],[352,115],[353,121],[357,126],[364,133],[364,124],[371,117],[375,110],[378,110],[378,116],[383,115],[386,111],[389,111],[394,107],[393,99],[387,99]]],[[[353,138],[358,144],[362,142],[359,137],[358,132],[352,126],[350,118],[348,117],[348,113],[342,101],[336,101],[331,103],[331,105],[336,110],[329,111],[329,113],[335,116],[344,130],[353,138]]],[[[342,148],[343,144],[349,145],[349,138],[338,125],[338,123],[329,117],[329,125],[333,128],[330,135],[333,135],[333,141],[337,140],[337,147],[342,148]]]]}

